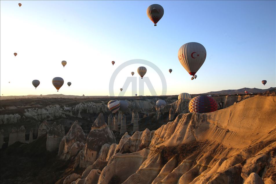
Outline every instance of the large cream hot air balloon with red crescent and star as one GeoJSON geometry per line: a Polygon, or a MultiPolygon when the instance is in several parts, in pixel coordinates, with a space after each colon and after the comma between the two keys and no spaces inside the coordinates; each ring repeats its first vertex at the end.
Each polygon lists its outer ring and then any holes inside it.
{"type": "Polygon", "coordinates": [[[194,76],[206,59],[206,49],[200,43],[185,43],[178,50],[178,59],[187,72],[194,76]]]}

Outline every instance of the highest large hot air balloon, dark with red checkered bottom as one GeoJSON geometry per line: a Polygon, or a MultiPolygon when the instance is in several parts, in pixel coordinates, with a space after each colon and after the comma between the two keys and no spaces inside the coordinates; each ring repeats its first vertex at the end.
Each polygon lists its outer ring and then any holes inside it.
{"type": "Polygon", "coordinates": [[[147,15],[149,19],[154,23],[154,26],[160,21],[162,16],[164,15],[164,9],[159,4],[152,4],[147,9],[147,15]]]}

